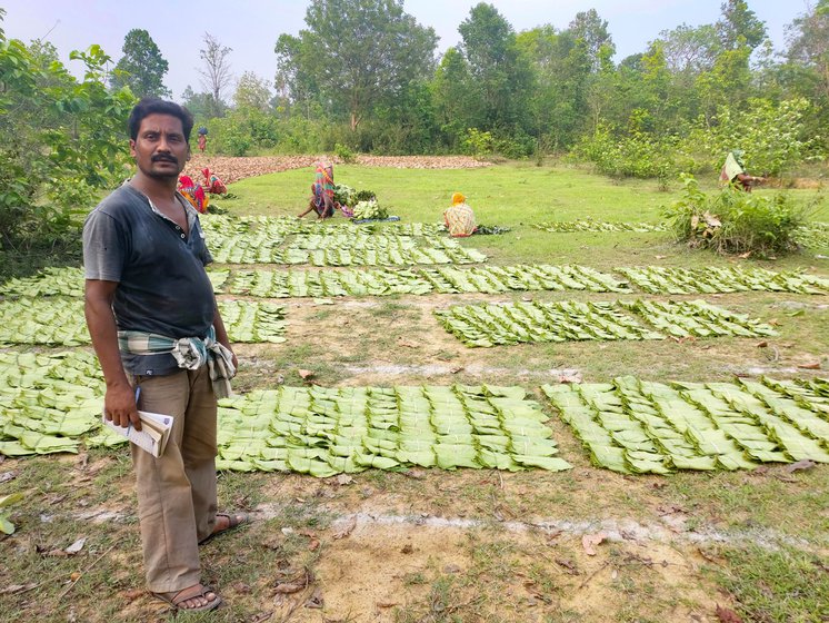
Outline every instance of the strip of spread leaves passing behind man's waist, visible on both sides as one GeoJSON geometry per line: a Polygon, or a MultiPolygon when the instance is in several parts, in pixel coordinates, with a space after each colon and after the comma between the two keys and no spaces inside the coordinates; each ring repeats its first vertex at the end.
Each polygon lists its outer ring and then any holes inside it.
{"type": "MultiPolygon", "coordinates": [[[[269,303],[219,300],[232,342],[284,342],[284,307],[269,303]]],[[[0,301],[0,345],[79,346],[89,344],[80,298],[28,298],[0,301]]]]}

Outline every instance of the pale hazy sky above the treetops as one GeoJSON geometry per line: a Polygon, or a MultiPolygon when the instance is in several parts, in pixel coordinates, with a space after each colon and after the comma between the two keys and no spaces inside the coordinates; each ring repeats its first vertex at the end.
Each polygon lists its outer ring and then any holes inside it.
{"type": "MultiPolygon", "coordinates": [[[[492,0],[516,31],[549,23],[567,28],[579,11],[595,8],[616,42],[616,60],[643,52],[648,42],[662,30],[681,23],[699,26],[719,19],[722,0],[492,0]]],[[[458,26],[477,1],[419,0],[404,2],[406,12],[419,23],[431,26],[440,40],[439,51],[459,42],[458,26]]],[[[748,0],[749,8],[766,22],[775,48],[785,47],[785,26],[807,11],[808,0],[748,0]]],[[[78,61],[69,62],[71,50],[100,44],[112,57],[121,58],[123,38],[133,28],[147,30],[170,63],[164,85],[179,99],[190,85],[201,88],[197,72],[203,34],[210,32],[232,49],[233,75],[253,71],[269,81],[276,72],[273,48],[283,32],[297,34],[304,28],[308,2],[288,0],[3,0],[7,10],[2,28],[6,36],[22,39],[44,38],[53,43],[76,75],[78,61]]],[[[343,33],[348,37],[348,33],[343,33]]]]}

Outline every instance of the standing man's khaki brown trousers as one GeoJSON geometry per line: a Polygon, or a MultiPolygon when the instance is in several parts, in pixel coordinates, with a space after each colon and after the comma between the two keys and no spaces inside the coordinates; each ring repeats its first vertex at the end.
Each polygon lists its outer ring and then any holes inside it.
{"type": "Polygon", "coordinates": [[[171,415],[159,458],[132,445],[147,585],[154,593],[201,581],[199,541],[216,522],[216,397],[207,366],[168,376],[133,376],[139,409],[171,415]]]}

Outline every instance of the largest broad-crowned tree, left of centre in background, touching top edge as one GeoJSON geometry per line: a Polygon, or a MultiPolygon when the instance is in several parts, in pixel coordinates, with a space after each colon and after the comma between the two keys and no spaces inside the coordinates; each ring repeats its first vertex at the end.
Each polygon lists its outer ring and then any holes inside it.
{"type": "Polygon", "coordinates": [[[312,0],[299,37],[277,42],[280,82],[297,100],[317,89],[351,130],[381,101],[393,101],[435,66],[437,36],[403,12],[401,0],[312,0]]]}

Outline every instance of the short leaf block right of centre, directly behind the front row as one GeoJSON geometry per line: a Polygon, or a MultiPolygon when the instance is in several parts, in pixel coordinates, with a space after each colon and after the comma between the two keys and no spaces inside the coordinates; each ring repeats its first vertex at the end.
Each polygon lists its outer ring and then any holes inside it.
{"type": "Polygon", "coordinates": [[[473,347],[526,342],[777,335],[769,325],[702,300],[457,305],[436,309],[435,315],[448,332],[473,347]],[[639,324],[622,309],[636,314],[652,328],[639,324]]]}

